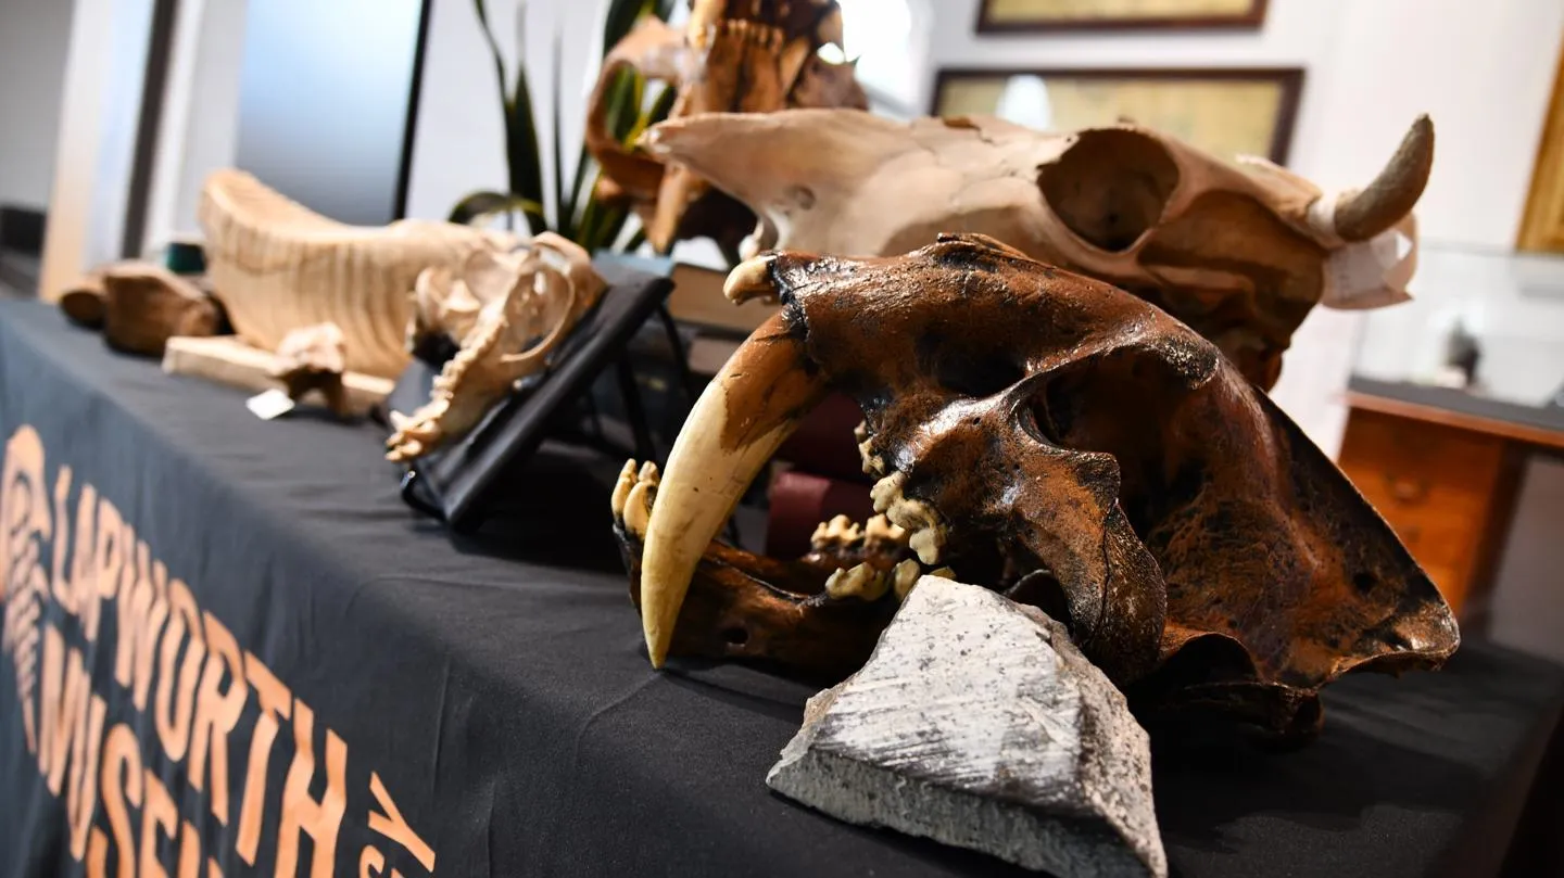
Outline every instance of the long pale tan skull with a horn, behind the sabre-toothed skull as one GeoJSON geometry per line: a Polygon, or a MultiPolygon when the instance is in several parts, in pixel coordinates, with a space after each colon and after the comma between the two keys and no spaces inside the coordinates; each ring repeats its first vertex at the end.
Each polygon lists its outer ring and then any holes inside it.
{"type": "Polygon", "coordinates": [[[1361,283],[1343,269],[1394,250],[1378,239],[1411,222],[1434,131],[1419,119],[1378,178],[1339,197],[1132,125],[1045,134],[990,117],[799,109],[669,120],[643,142],[760,217],[746,256],[888,256],[938,233],[988,234],[1160,306],[1270,387],[1315,303],[1379,283],[1340,289],[1361,283]]]}

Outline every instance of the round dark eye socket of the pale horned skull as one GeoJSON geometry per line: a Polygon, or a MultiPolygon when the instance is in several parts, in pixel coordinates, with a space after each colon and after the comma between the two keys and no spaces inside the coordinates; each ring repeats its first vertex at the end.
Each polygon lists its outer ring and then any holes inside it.
{"type": "Polygon", "coordinates": [[[1038,172],[1054,214],[1085,242],[1128,250],[1162,217],[1178,187],[1178,166],[1156,139],[1137,131],[1081,131],[1038,172]]]}

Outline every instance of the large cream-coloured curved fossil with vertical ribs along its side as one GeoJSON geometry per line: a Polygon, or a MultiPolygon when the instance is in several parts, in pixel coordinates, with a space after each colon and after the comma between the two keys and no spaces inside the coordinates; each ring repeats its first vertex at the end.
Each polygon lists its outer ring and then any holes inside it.
{"type": "Polygon", "coordinates": [[[443,222],[353,227],[327,219],[242,170],[206,178],[199,208],[214,295],[246,342],[275,352],[300,327],[336,323],[347,369],[394,378],[407,366],[408,291],[432,266],[515,236],[443,222]]]}

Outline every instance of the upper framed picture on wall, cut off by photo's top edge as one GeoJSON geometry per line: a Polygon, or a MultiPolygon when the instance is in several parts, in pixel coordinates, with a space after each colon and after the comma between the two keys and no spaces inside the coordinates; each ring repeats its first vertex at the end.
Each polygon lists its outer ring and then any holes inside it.
{"type": "Polygon", "coordinates": [[[1259,28],[1267,0],[982,0],[978,33],[1259,28]]]}

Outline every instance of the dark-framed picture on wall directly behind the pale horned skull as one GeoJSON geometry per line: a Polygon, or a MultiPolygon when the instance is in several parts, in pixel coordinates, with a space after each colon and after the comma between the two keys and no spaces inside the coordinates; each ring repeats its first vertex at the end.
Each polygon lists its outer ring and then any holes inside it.
{"type": "Polygon", "coordinates": [[[998,116],[1073,131],[1134,122],[1223,158],[1286,164],[1303,92],[1301,67],[940,70],[935,116],[998,116]]]}

